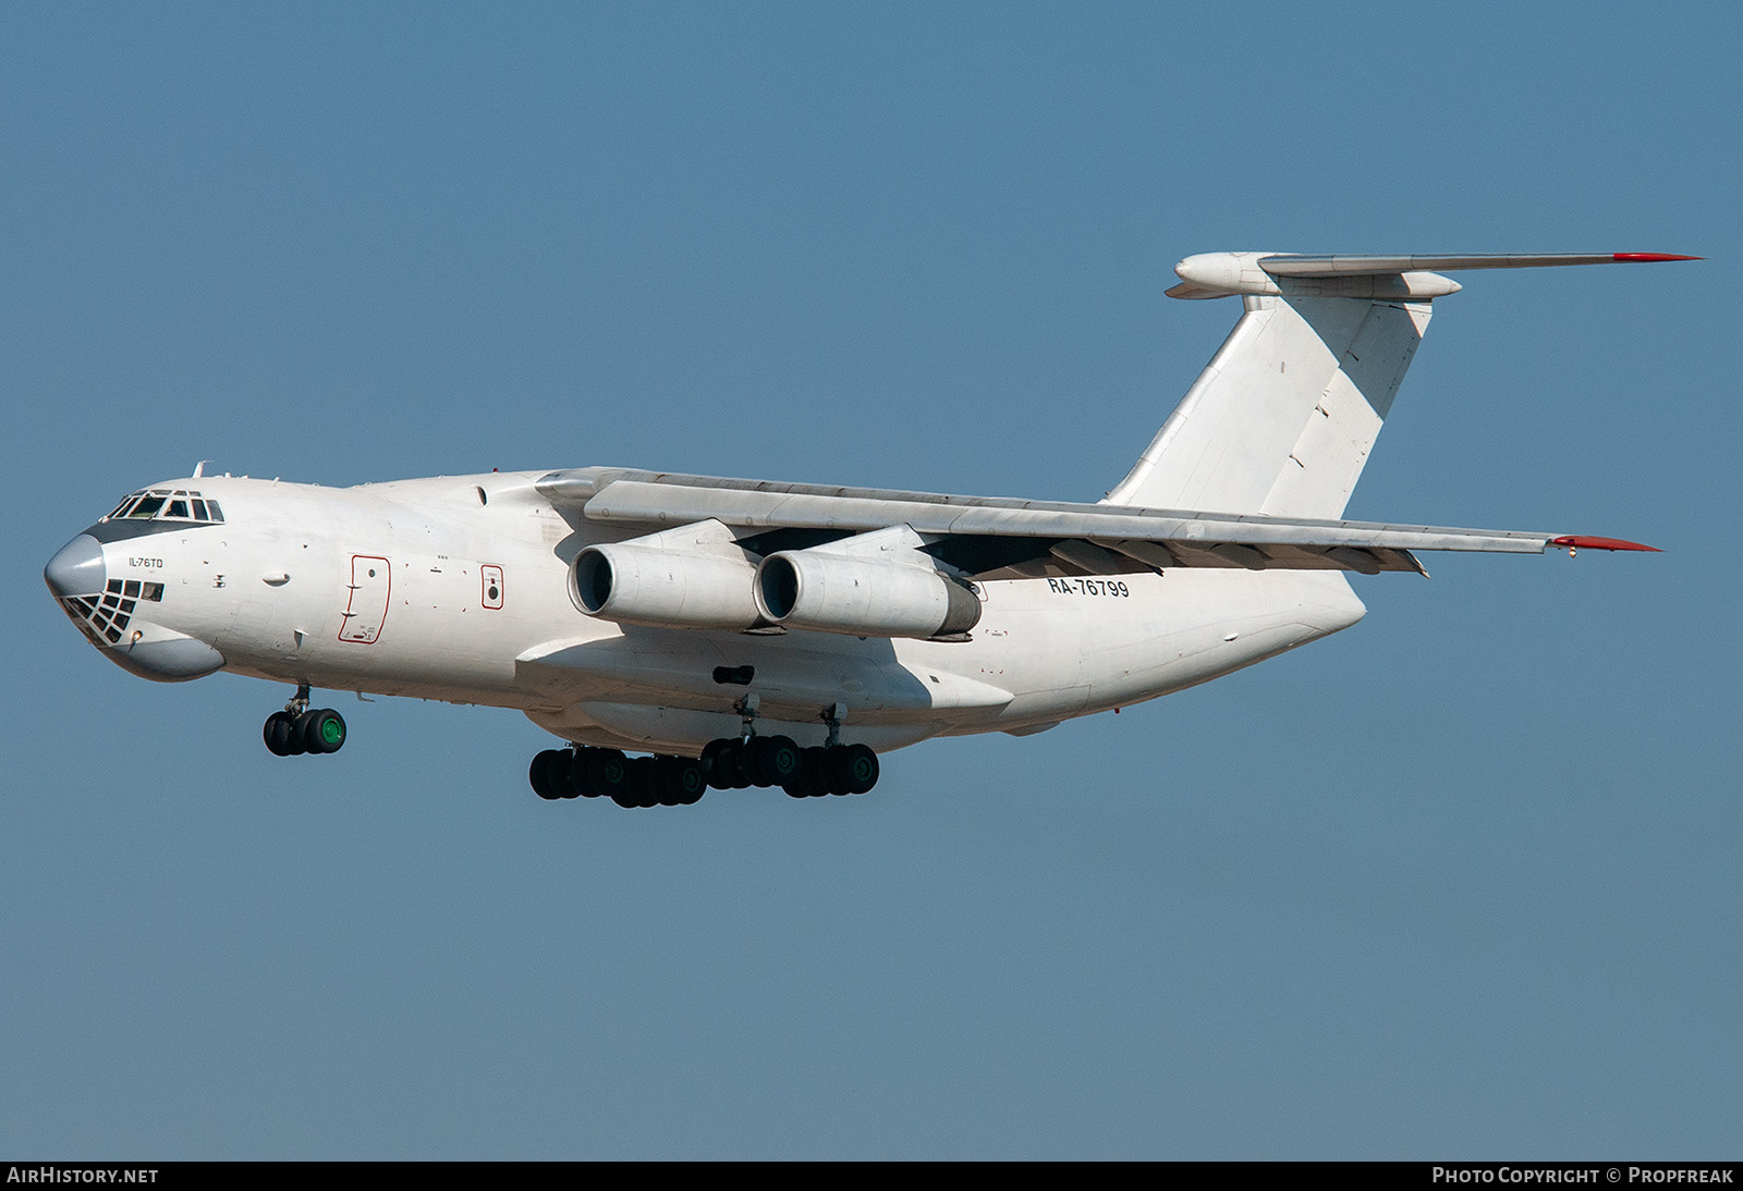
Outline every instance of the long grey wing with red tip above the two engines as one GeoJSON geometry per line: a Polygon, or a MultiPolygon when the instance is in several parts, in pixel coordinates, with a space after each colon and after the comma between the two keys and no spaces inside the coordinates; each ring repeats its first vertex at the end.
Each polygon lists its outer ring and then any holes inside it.
{"type": "Polygon", "coordinates": [[[551,472],[539,481],[539,491],[601,526],[668,529],[718,521],[756,554],[908,526],[927,542],[927,554],[980,578],[1175,566],[1424,573],[1412,550],[1654,548],[1579,535],[946,496],[621,468],[551,472]]]}

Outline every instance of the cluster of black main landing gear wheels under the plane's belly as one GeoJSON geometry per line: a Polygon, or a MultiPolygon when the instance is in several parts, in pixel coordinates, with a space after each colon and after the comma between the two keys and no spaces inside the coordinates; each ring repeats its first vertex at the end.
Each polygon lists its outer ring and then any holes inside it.
{"type": "Polygon", "coordinates": [[[626,757],[617,749],[546,749],[526,777],[546,799],[610,797],[619,806],[690,806],[708,787],[779,785],[793,797],[865,794],[877,785],[877,754],[866,745],[800,749],[790,737],[711,740],[699,759],[626,757]]]}

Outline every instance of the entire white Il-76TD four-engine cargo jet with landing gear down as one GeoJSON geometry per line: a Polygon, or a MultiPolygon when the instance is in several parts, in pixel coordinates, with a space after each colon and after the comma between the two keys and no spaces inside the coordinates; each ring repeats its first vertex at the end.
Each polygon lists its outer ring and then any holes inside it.
{"type": "Polygon", "coordinates": [[[1211,252],[1173,298],[1243,313],[1096,503],[621,467],[321,488],[234,475],[125,496],[45,578],[157,681],[295,686],[279,756],[336,752],[310,690],[514,707],[563,747],[533,791],[621,806],[708,787],[863,794],[878,754],[1046,731],[1204,683],[1367,611],[1349,575],[1419,550],[1649,550],[1616,538],[1342,521],[1436,270],[1698,259],[1211,252]],[[627,756],[641,754],[641,756],[627,756]]]}

